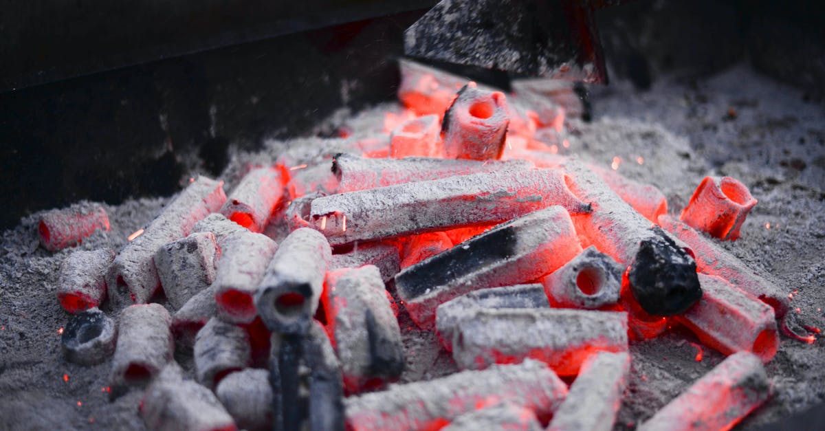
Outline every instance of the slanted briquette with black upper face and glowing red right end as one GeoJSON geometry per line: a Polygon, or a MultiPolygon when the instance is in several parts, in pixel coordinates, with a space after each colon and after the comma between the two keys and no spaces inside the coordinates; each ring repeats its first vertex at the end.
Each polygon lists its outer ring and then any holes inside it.
{"type": "Polygon", "coordinates": [[[536,280],[581,251],[570,215],[552,206],[497,225],[398,272],[395,287],[416,324],[427,329],[439,304],[485,287],[536,280]]]}

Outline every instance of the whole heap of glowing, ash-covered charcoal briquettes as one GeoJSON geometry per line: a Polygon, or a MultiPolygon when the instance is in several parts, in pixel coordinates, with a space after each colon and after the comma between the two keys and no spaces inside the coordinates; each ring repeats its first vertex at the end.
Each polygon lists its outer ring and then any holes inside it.
{"type": "MultiPolygon", "coordinates": [[[[117,253],[68,254],[66,358],[110,361],[148,429],[611,429],[628,343],[682,325],[729,356],[640,429],[726,429],[770,397],[780,331],[813,342],[719,244],[757,204],[741,182],[707,177],[668,215],[656,187],[559,154],[569,85],[401,69],[385,133],[249,166],[229,197],[191,178],[117,253]],[[399,384],[399,313],[461,371],[399,384]]],[[[59,250],[98,229],[84,204],[39,232],[59,250]]]]}

